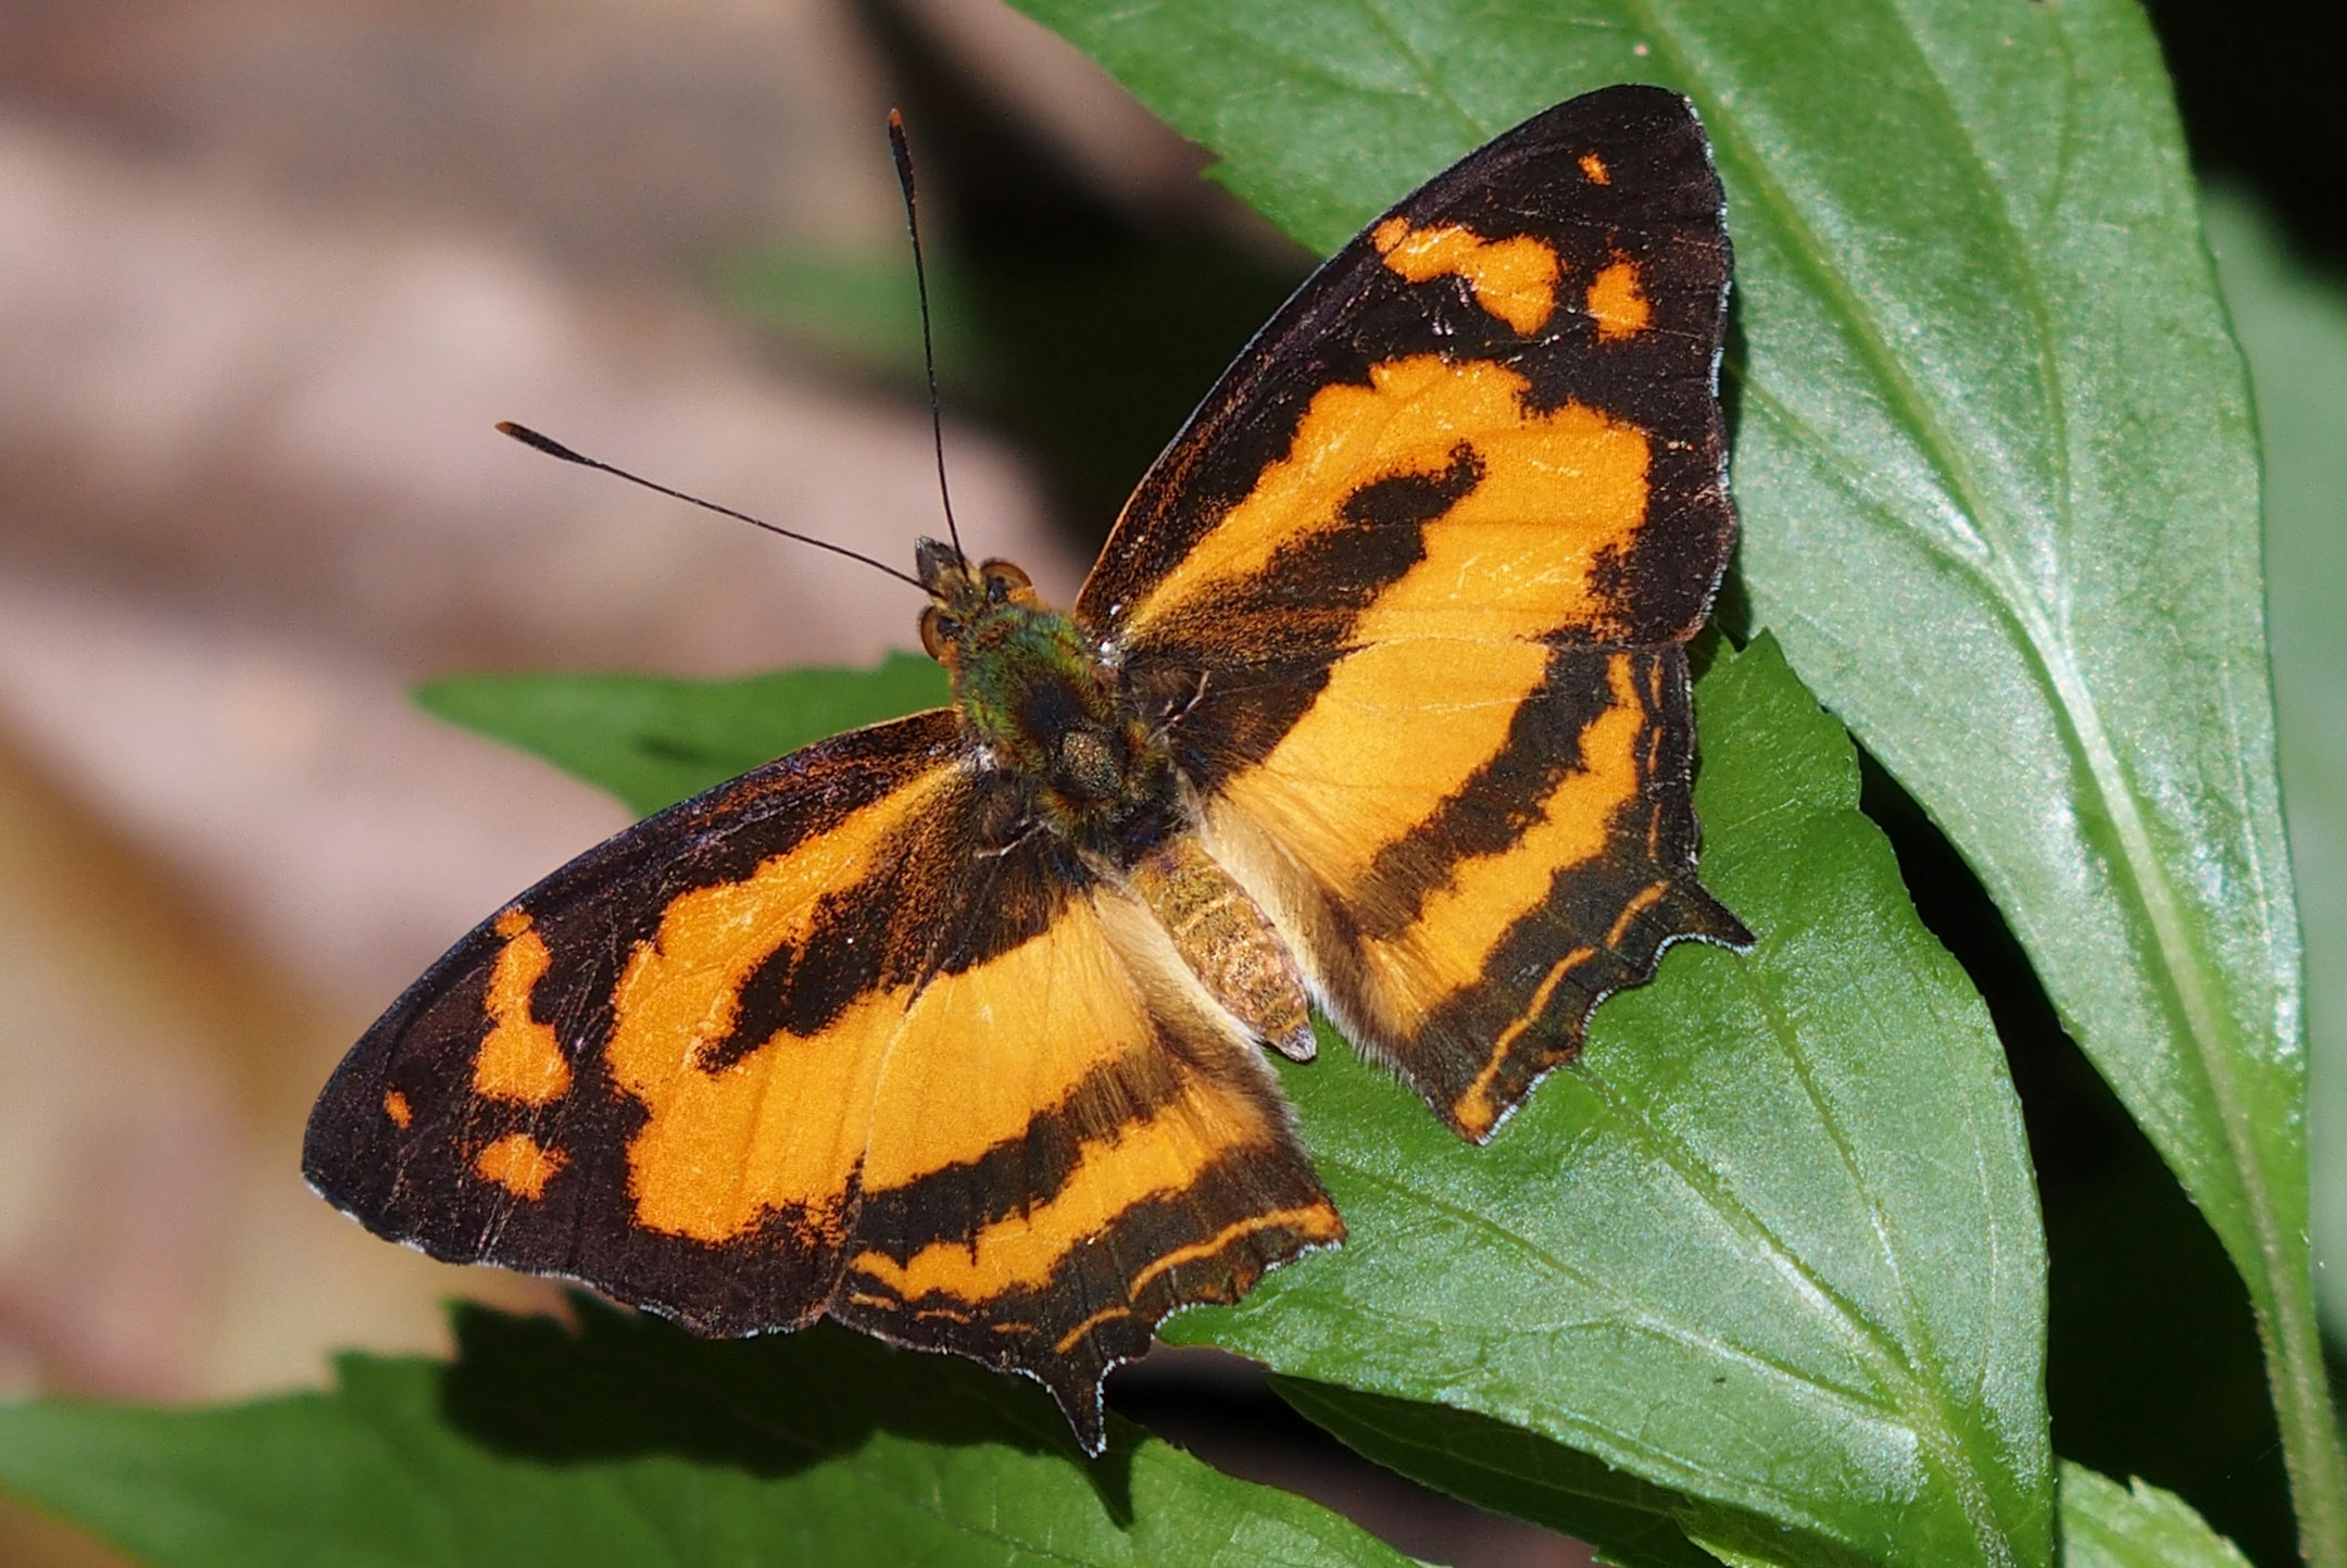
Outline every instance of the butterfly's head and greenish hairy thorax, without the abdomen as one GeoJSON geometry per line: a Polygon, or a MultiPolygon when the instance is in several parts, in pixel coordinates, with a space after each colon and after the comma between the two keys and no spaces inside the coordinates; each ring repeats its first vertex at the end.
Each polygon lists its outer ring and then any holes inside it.
{"type": "Polygon", "coordinates": [[[1171,756],[1098,643],[1007,561],[972,568],[929,540],[915,559],[932,599],[922,646],[1028,810],[1094,859],[1122,864],[1155,843],[1174,805],[1171,756]]]}

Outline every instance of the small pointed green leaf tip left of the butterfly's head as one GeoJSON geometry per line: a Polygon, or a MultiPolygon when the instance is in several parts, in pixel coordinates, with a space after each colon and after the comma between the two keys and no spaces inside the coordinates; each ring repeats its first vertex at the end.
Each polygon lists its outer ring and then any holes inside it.
{"type": "Polygon", "coordinates": [[[892,653],[878,669],[744,681],[453,676],[415,699],[657,812],[826,735],[934,709],[948,690],[934,660],[892,653]]]}

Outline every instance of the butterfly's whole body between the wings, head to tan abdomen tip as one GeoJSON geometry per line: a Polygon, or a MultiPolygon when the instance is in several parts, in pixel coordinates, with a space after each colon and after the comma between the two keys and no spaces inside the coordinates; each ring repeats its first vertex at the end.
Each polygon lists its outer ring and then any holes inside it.
{"type": "Polygon", "coordinates": [[[1303,976],[1270,918],[1188,829],[1164,721],[1134,702],[1103,648],[1044,608],[1009,561],[918,554],[932,606],[922,646],[986,758],[1023,798],[1012,833],[1042,829],[1141,899],[1206,993],[1251,1035],[1312,1056],[1303,976]]]}

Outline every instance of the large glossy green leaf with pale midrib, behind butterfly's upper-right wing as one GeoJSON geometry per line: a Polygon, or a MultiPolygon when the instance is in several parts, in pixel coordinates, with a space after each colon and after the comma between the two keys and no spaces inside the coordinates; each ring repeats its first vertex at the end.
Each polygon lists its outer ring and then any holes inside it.
{"type": "Polygon", "coordinates": [[[1328,249],[1615,80],[1704,113],[1753,624],[1932,812],[2258,1307],[2309,1554],[2347,1472],[2305,1249],[2258,472],[2129,0],[1021,0],[1328,249]]]}

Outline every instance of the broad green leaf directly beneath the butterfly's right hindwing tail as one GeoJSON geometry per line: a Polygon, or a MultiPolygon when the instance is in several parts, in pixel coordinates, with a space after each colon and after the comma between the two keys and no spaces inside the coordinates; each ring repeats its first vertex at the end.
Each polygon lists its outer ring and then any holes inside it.
{"type": "MultiPolygon", "coordinates": [[[[1988,1014],[1777,648],[1723,655],[1695,704],[1704,880],[1758,948],[1673,948],[1488,1148],[1333,1040],[1284,1070],[1350,1239],[1166,1338],[1331,1385],[1314,1418],[1364,1390],[1580,1448],[1690,1500],[1713,1552],[2044,1563],[2044,1249],[1988,1014]]],[[[1392,1406],[1331,1420],[1364,1422],[1392,1406]]]]}

